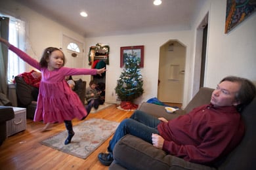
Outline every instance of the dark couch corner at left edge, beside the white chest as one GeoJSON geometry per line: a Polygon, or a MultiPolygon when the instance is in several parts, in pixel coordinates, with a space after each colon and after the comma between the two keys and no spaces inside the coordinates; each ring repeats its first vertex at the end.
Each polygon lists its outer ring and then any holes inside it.
{"type": "Polygon", "coordinates": [[[12,107],[0,106],[0,146],[7,137],[7,121],[14,118],[12,107]]]}

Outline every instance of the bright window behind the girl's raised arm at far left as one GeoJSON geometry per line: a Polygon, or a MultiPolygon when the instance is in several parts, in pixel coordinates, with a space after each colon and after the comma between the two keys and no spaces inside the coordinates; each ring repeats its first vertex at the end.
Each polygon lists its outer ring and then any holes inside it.
{"type": "MultiPolygon", "coordinates": [[[[22,20],[18,20],[16,18],[10,18],[9,21],[9,42],[14,46],[20,48],[20,50],[24,50],[24,22],[22,20]]],[[[12,80],[14,76],[23,73],[25,68],[25,62],[20,59],[14,52],[9,50],[8,56],[8,71],[7,78],[8,80],[12,80]]]]}

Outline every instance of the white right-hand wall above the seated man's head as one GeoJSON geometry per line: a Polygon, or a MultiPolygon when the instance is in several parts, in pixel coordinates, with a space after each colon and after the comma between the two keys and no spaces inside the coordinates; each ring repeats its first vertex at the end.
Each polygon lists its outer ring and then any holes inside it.
{"type": "Polygon", "coordinates": [[[221,78],[242,76],[256,84],[256,12],[230,33],[224,33],[226,0],[205,1],[196,27],[209,12],[204,86],[215,88],[221,78]]]}

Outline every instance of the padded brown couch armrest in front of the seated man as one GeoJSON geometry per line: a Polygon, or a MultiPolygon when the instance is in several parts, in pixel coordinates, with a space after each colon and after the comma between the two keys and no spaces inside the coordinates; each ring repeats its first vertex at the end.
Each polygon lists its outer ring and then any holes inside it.
{"type": "Polygon", "coordinates": [[[166,154],[133,135],[126,135],[116,143],[113,156],[127,169],[215,169],[166,154]]]}

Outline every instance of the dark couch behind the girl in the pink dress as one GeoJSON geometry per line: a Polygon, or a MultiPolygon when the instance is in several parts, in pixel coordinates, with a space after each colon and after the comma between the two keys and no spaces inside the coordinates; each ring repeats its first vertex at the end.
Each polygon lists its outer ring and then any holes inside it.
{"type": "MultiPolygon", "coordinates": [[[[33,120],[35,114],[35,109],[37,107],[36,97],[34,97],[34,92],[38,90],[37,88],[27,84],[21,76],[15,76],[15,86],[18,107],[24,107],[27,109],[27,118],[33,120]]],[[[75,80],[74,91],[81,99],[82,103],[85,103],[85,88],[86,82],[79,79],[75,80]]]]}

